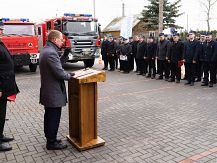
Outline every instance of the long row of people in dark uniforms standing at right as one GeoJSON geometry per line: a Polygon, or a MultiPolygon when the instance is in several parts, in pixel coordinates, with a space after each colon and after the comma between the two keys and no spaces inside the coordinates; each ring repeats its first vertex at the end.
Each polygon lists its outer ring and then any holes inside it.
{"type": "Polygon", "coordinates": [[[180,83],[181,67],[184,65],[186,85],[202,81],[202,86],[213,87],[217,73],[217,42],[212,33],[201,33],[195,38],[195,31],[190,31],[186,40],[181,40],[179,33],[167,38],[159,34],[159,41],[153,37],[135,36],[114,39],[104,36],[101,54],[104,70],[114,71],[120,64],[120,71],[129,73],[134,70],[138,75],[180,83]],[[158,74],[158,77],[156,76],[158,74]]]}

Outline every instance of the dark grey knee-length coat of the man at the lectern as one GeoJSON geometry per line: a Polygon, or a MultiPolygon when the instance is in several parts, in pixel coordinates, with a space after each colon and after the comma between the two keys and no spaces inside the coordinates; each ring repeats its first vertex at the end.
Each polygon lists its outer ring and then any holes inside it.
{"type": "Polygon", "coordinates": [[[71,75],[64,71],[62,64],[67,60],[58,54],[59,48],[52,42],[47,42],[39,56],[41,75],[40,103],[45,107],[62,107],[67,103],[64,80],[71,75]]]}

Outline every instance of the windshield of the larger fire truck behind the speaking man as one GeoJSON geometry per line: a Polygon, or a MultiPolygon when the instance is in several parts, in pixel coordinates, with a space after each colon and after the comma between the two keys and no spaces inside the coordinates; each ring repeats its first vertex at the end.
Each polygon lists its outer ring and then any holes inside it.
{"type": "Polygon", "coordinates": [[[96,22],[67,22],[64,25],[64,31],[70,35],[96,35],[97,23],[96,22]]]}

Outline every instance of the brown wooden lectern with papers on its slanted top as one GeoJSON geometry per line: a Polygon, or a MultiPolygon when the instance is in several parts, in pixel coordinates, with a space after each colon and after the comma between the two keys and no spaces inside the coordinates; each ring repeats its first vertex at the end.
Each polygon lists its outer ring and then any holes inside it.
{"type": "Polygon", "coordinates": [[[97,82],[105,81],[105,72],[79,70],[68,83],[68,141],[79,151],[105,144],[97,134],[97,82]]]}

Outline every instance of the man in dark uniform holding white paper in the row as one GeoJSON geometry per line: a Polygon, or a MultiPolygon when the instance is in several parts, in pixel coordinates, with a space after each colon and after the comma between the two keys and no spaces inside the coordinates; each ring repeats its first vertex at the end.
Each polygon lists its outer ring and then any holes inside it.
{"type": "Polygon", "coordinates": [[[120,61],[123,65],[123,72],[129,73],[131,70],[131,55],[132,55],[132,46],[129,43],[129,40],[123,38],[123,45],[120,47],[120,61]]]}

